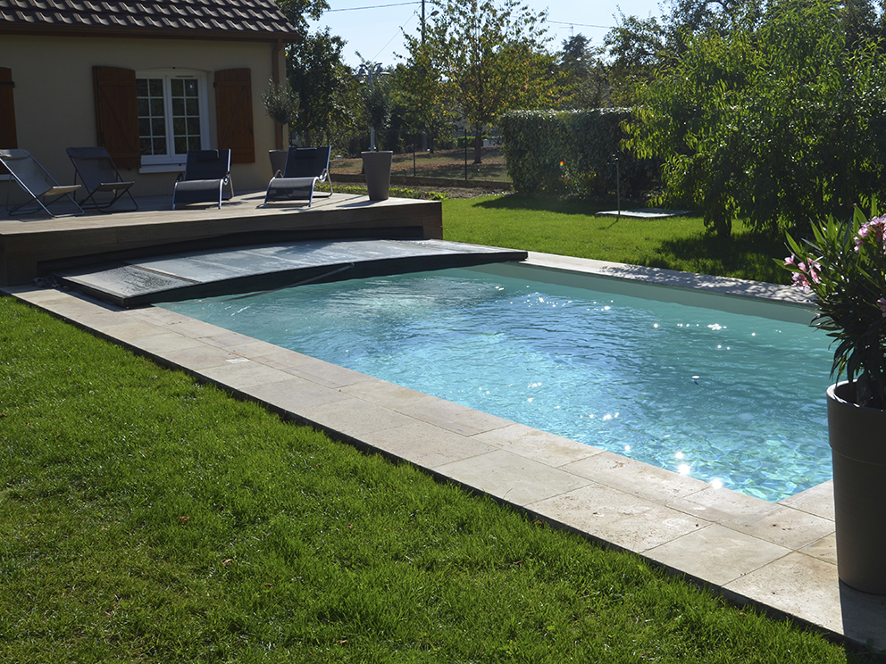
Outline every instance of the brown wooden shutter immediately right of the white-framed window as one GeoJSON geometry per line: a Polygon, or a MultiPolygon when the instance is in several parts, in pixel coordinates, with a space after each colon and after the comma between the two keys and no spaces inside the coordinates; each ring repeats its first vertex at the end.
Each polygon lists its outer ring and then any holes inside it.
{"type": "Polygon", "coordinates": [[[216,71],[214,85],[219,148],[230,147],[231,163],[255,163],[252,73],[248,69],[216,71]]]}

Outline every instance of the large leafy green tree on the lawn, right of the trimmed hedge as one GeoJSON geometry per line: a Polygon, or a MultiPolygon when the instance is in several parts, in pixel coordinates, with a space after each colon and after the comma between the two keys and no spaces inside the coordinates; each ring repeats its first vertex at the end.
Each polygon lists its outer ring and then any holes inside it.
{"type": "Polygon", "coordinates": [[[875,193],[886,71],[879,42],[848,18],[838,0],[776,0],[687,37],[628,127],[636,154],[664,160],[660,203],[697,206],[728,236],[738,214],[800,228],[875,193]]]}

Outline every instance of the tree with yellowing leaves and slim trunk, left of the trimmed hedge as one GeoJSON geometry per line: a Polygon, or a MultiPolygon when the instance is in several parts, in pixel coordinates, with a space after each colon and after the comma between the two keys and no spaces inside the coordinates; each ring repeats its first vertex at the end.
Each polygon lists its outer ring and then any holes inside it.
{"type": "Polygon", "coordinates": [[[545,46],[546,12],[532,13],[517,0],[447,0],[425,30],[406,36],[410,62],[421,68],[429,91],[455,107],[474,129],[474,162],[482,161],[483,131],[502,112],[555,104],[554,56],[545,46]],[[552,80],[554,79],[554,80],[552,80]]]}

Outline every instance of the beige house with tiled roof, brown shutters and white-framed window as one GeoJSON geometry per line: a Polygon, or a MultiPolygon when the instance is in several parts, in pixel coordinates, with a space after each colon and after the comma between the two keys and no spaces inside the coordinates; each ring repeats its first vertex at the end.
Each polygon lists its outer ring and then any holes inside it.
{"type": "Polygon", "coordinates": [[[272,0],[0,0],[0,148],[71,184],[65,148],[104,146],[137,196],[230,148],[235,193],[262,190],[281,128],[261,94],[296,39],[272,0]]]}

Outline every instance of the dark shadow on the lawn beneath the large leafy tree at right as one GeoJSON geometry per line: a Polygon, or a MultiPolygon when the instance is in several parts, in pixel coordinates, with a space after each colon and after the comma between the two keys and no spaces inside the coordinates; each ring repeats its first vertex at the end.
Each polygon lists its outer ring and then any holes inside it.
{"type": "Polygon", "coordinates": [[[656,247],[650,267],[685,270],[686,264],[702,274],[730,274],[738,278],[790,284],[790,274],[776,263],[787,255],[782,240],[752,232],[723,240],[701,234],[664,240],[656,247]],[[681,267],[682,265],[682,267],[681,267]]]}

